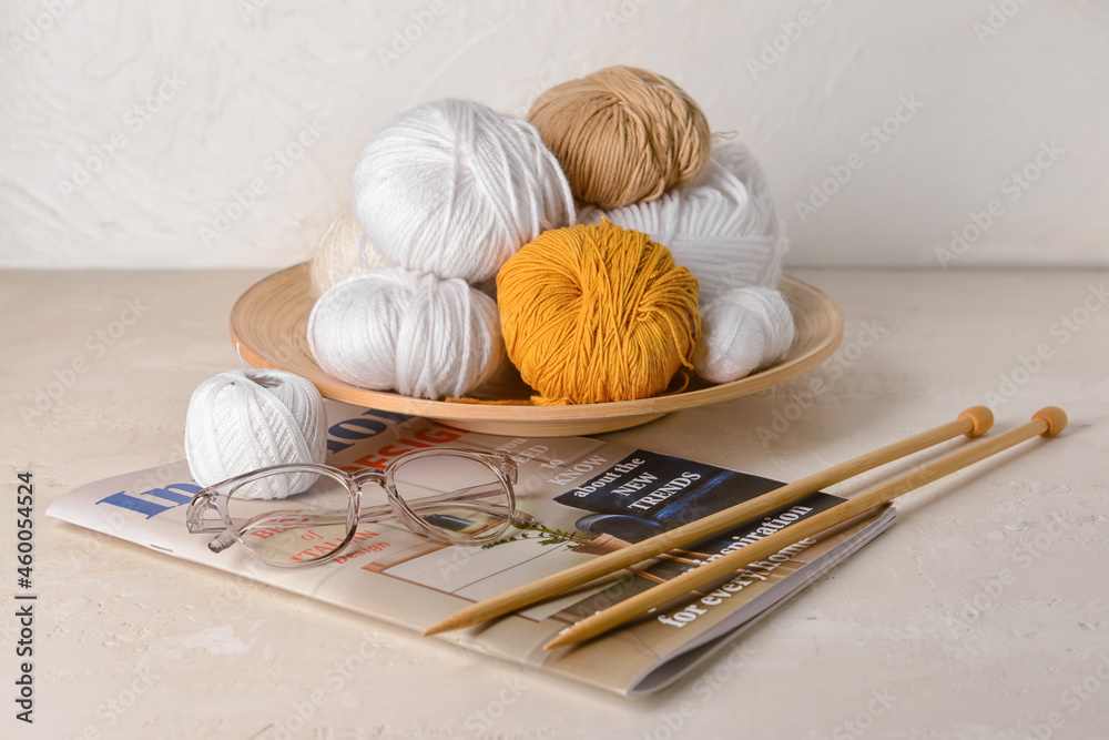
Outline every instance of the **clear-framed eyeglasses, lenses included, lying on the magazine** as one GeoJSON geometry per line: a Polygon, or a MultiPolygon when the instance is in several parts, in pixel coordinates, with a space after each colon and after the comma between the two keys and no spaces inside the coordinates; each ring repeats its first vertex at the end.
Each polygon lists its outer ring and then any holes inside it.
{"type": "Polygon", "coordinates": [[[390,518],[426,537],[482,545],[513,524],[536,524],[516,510],[516,476],[508,455],[452,448],[406,453],[384,472],[275,465],[199,491],[186,523],[193,534],[218,533],[213,553],[237,541],[286,568],[327,562],[364,540],[370,546],[377,533],[363,525],[390,518]]]}

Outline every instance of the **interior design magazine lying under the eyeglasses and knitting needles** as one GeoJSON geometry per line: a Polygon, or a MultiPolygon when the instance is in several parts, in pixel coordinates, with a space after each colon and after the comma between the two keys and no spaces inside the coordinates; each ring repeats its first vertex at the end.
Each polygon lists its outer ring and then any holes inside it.
{"type": "MultiPolygon", "coordinates": [[[[477,547],[447,545],[400,523],[379,521],[367,533],[359,530],[356,541],[329,562],[279,568],[261,562],[242,546],[213,553],[207,548],[211,535],[187,531],[185,510],[201,486],[184,460],[88,484],[60,497],[47,513],[159,553],[423,631],[470,604],[782,485],[591,437],[501,437],[333,401],[325,404],[330,465],[350,472],[384,469],[398,455],[431,447],[498,450],[516,460],[518,507],[539,524],[477,547]]],[[[842,500],[813,494],[645,567],[434,639],[624,696],[647,695],[678,680],[893,525],[893,507],[786,547],[592,641],[551,651],[542,646],[584,616],[842,500]]]]}

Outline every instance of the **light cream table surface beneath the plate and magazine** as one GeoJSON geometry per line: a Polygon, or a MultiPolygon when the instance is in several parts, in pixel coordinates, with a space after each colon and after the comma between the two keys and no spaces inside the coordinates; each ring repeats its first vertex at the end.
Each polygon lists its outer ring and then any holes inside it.
{"type": "Polygon", "coordinates": [[[4,697],[23,470],[39,595],[35,723],[6,698],[3,737],[1109,737],[1109,275],[795,275],[844,310],[831,361],[607,438],[794,480],[975,404],[996,430],[1046,405],[1070,427],[901,499],[892,530],[634,701],[48,519],[183,457],[190,394],[240,366],[227,316],[263,273],[0,273],[4,697]]]}

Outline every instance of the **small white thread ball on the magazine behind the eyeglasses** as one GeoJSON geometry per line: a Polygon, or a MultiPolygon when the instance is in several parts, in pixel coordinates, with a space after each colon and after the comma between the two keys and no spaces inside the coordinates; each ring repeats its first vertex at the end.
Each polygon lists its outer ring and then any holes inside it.
{"type": "MultiPolygon", "coordinates": [[[[189,401],[185,457],[202,486],[283,463],[323,463],[324,399],[308,381],[277,369],[230,371],[201,383],[189,401]]],[[[267,479],[250,498],[284,498],[315,476],[267,479]]]]}

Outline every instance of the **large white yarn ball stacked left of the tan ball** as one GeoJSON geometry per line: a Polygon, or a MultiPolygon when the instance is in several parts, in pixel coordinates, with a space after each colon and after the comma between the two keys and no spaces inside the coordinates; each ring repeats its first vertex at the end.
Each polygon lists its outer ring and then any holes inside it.
{"type": "Polygon", "coordinates": [[[354,171],[369,241],[410,270],[477,283],[541,232],[573,225],[573,196],[533,125],[440,100],[394,118],[354,171]]]}

